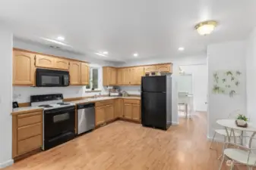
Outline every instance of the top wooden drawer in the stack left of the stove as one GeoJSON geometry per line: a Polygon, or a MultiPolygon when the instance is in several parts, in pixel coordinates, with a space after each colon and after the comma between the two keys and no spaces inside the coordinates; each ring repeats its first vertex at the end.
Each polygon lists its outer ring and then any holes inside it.
{"type": "Polygon", "coordinates": [[[17,127],[32,125],[43,121],[41,112],[18,115],[17,118],[17,127]]]}

